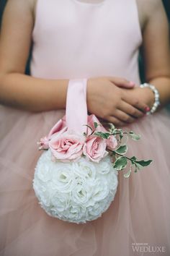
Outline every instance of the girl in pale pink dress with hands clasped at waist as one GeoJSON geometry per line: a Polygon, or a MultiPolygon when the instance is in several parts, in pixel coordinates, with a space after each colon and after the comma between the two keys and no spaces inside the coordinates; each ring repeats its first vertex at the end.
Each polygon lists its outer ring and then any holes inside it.
{"type": "Polygon", "coordinates": [[[170,99],[168,31],[160,0],[7,2],[0,40],[1,255],[131,256],[151,248],[169,255],[170,119],[161,110],[170,99]],[[139,87],[140,46],[153,88],[139,87]],[[130,155],[153,159],[128,180],[120,175],[109,210],[84,225],[47,216],[32,190],[36,142],[63,116],[68,81],[76,78],[88,78],[89,112],[140,133],[130,155]]]}

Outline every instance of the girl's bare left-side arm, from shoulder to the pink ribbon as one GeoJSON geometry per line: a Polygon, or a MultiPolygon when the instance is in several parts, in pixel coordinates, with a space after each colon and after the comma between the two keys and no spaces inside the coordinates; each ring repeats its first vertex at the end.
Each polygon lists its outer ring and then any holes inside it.
{"type": "Polygon", "coordinates": [[[30,111],[65,108],[68,80],[24,75],[33,28],[33,1],[9,0],[0,40],[0,102],[30,111]]]}

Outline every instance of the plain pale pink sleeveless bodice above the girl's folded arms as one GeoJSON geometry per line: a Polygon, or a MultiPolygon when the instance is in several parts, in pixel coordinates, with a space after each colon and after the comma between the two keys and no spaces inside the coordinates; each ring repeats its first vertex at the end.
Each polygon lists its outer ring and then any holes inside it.
{"type": "Polygon", "coordinates": [[[142,36],[135,0],[37,0],[32,40],[34,77],[139,82],[142,36]]]}

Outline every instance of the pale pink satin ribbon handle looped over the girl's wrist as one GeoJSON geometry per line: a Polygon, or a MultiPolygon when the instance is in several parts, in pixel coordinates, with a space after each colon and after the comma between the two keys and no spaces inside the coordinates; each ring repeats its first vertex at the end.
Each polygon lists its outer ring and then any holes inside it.
{"type": "Polygon", "coordinates": [[[86,84],[86,79],[69,80],[66,99],[66,126],[81,134],[87,124],[86,84]]]}

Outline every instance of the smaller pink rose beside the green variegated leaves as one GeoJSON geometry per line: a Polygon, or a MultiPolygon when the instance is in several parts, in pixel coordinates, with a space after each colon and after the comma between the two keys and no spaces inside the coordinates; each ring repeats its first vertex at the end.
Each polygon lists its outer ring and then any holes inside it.
{"type": "Polygon", "coordinates": [[[99,163],[108,154],[106,147],[106,140],[101,137],[89,136],[84,143],[83,153],[91,161],[99,163]]]}

